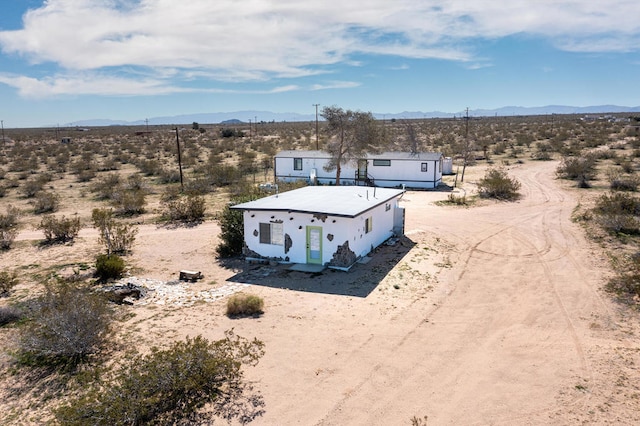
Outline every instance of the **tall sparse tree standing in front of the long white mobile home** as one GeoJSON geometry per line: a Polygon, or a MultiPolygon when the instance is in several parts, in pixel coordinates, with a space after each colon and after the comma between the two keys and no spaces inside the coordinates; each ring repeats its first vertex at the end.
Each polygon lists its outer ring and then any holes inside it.
{"type": "Polygon", "coordinates": [[[384,141],[384,133],[370,112],[343,110],[337,106],[324,107],[322,117],[327,120],[330,134],[327,151],[331,155],[326,171],[336,171],[336,185],[340,185],[342,166],[376,152],[384,141]]]}

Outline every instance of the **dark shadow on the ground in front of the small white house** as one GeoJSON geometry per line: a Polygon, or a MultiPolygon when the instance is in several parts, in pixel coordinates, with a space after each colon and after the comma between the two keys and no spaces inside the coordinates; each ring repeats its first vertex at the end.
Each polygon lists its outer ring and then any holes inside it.
{"type": "Polygon", "coordinates": [[[395,244],[382,244],[367,263],[356,263],[349,272],[325,269],[322,272],[293,271],[287,264],[255,264],[240,261],[223,262],[222,266],[237,271],[227,281],[285,290],[367,297],[389,272],[411,251],[415,243],[406,236],[395,244]]]}

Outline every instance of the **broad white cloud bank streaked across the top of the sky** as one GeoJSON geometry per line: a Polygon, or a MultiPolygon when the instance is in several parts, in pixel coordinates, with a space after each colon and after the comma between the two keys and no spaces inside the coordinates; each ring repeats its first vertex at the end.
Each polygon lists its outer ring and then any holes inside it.
{"type": "Polygon", "coordinates": [[[25,14],[21,30],[0,31],[0,47],[59,67],[49,79],[11,79],[21,93],[139,94],[186,90],[164,87],[169,75],[305,77],[353,66],[360,54],[474,67],[470,42],[516,34],[570,51],[634,51],[639,16],[637,0],[48,0],[25,14]],[[105,77],[112,69],[126,77],[105,77]],[[78,79],[81,72],[102,81],[78,79]]]}

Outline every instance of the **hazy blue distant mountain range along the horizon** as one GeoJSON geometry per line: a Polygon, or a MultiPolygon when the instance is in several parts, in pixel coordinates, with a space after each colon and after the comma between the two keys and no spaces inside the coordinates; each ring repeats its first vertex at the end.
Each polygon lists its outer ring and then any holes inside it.
{"type": "MultiPolygon", "coordinates": [[[[518,115],[549,115],[549,114],[604,114],[604,113],[632,113],[640,112],[640,106],[624,107],[617,105],[597,105],[587,107],[574,107],[566,105],[548,105],[543,107],[518,107],[506,106],[497,109],[469,110],[470,117],[508,117],[518,115]]],[[[401,113],[373,113],[378,119],[415,119],[415,118],[453,118],[461,117],[466,111],[456,113],[442,111],[403,111],[401,113]]],[[[174,115],[170,117],[153,117],[149,119],[124,121],[109,119],[93,119],[75,121],[68,126],[142,126],[142,125],[167,125],[167,124],[218,124],[218,123],[249,123],[255,122],[288,122],[288,121],[314,121],[315,114],[298,114],[295,112],[271,112],[271,111],[235,111],[212,112],[200,114],[174,115]]]]}

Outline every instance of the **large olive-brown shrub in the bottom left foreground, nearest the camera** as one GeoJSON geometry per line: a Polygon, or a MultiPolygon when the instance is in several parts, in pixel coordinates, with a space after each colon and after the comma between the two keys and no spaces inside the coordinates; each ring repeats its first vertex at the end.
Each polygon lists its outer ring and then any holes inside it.
{"type": "Polygon", "coordinates": [[[227,332],[202,336],[135,355],[55,412],[66,425],[213,424],[214,417],[246,424],[264,403],[244,381],[243,365],[255,365],[264,344],[227,332]]]}

